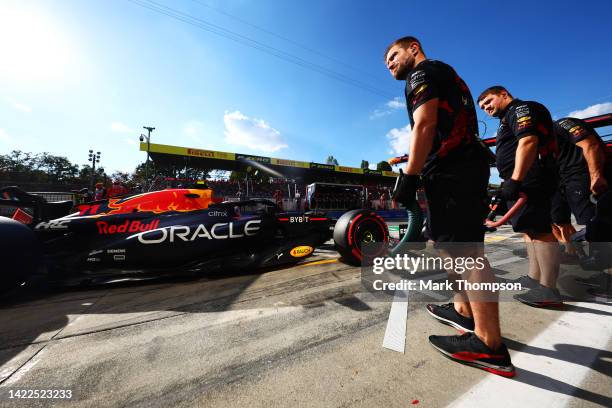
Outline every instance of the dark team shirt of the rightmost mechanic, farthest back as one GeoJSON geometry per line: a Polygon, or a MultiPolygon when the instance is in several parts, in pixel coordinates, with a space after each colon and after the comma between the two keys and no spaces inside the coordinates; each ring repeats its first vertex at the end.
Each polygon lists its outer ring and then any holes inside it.
{"type": "Polygon", "coordinates": [[[576,146],[589,136],[594,136],[605,151],[605,145],[597,132],[582,119],[563,118],[555,121],[555,135],[559,146],[559,175],[561,180],[572,176],[589,175],[589,168],[582,149],[576,146]]]}

